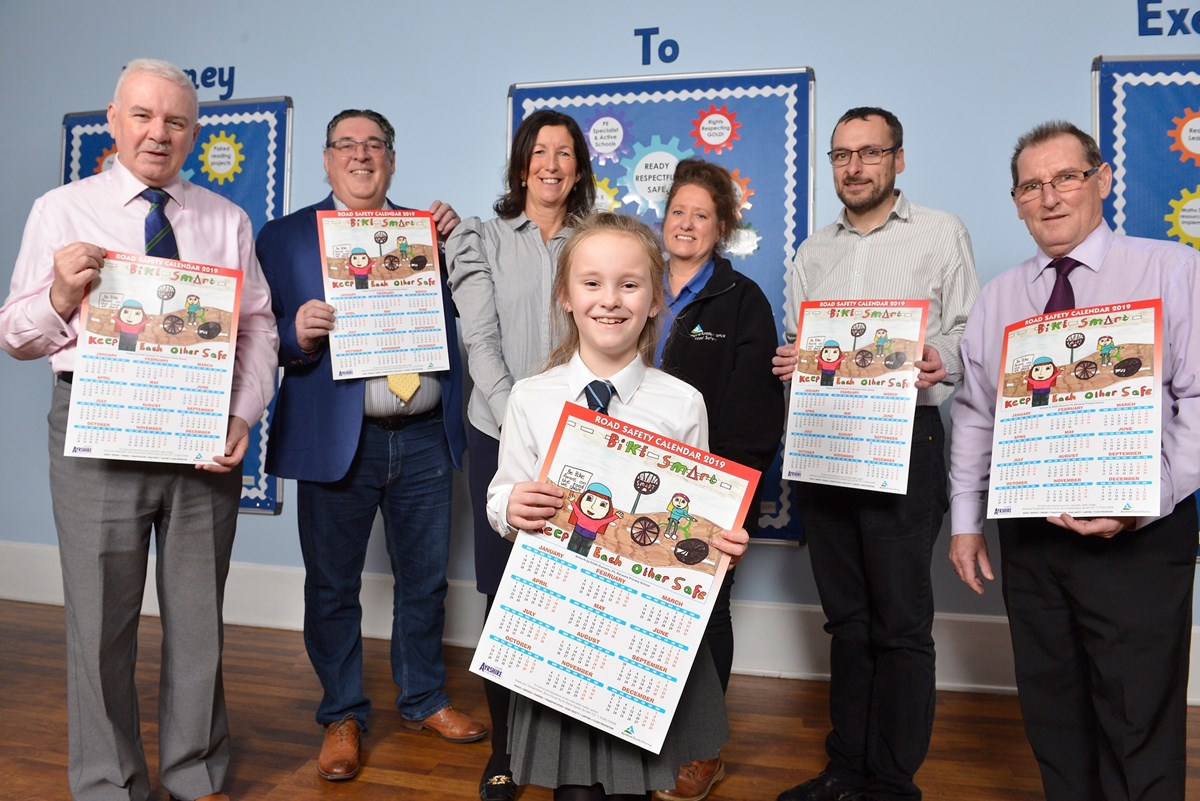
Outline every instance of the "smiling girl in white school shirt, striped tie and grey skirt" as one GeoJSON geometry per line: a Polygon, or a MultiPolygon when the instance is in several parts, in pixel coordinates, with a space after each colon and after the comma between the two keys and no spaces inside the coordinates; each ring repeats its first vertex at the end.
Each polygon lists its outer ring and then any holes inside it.
{"type": "MultiPolygon", "coordinates": [[[[563,492],[536,481],[564,402],[708,448],[703,397],[650,367],[662,309],[664,261],[642,223],[613,213],[584,219],[563,248],[553,285],[558,347],[550,369],[512,387],[500,430],[487,516],[506,537],[538,531],[563,507],[563,492]],[[589,403],[592,396],[592,403],[589,403]]],[[[713,547],[739,559],[744,529],[713,547]]],[[[554,788],[554,801],[634,801],[674,785],[679,765],[712,759],[728,739],[721,685],[706,644],[684,687],[662,753],[653,754],[515,695],[509,733],[517,784],[554,788]]]]}

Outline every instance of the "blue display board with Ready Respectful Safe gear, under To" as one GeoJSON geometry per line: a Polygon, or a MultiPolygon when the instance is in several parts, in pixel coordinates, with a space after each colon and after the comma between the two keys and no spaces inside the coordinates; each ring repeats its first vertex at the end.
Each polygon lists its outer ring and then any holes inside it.
{"type": "MultiPolygon", "coordinates": [[[[659,231],[680,159],[725,167],[742,199],[726,255],[762,287],[782,330],[786,265],[812,230],[812,88],[808,68],[516,84],[509,137],[538,109],[569,114],[588,139],[596,206],[659,231]]],[[[778,457],[762,481],[760,536],[799,538],[778,457]]]]}

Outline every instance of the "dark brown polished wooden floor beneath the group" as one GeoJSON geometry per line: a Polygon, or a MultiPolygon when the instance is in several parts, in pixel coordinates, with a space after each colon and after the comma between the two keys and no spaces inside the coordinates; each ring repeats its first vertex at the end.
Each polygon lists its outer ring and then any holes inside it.
{"type": "MultiPolygon", "coordinates": [[[[158,621],[139,634],[143,737],[151,771],[157,759],[158,621]]],[[[0,800],[67,799],[66,675],[62,609],[0,601],[0,800]]],[[[449,693],[455,706],[486,719],[480,679],[467,673],[469,652],[449,649],[449,693]]],[[[312,722],[317,681],[296,632],[230,626],[224,683],[233,730],[233,766],[226,791],[234,801],[355,799],[476,799],[486,742],[451,745],[400,725],[391,705],[388,644],[366,642],[366,687],[374,701],[365,764],[353,782],[317,776],[320,730],[312,722]]],[[[824,765],[827,717],[823,682],[733,676],[727,695],[733,735],[721,754],[728,777],[714,801],[774,801],[824,765]]],[[[1189,799],[1200,797],[1200,710],[1189,712],[1189,799]]],[[[154,779],[156,795],[167,794],[154,779]]],[[[1016,699],[938,693],[934,741],[918,783],[926,799],[1034,801],[1037,766],[1021,730],[1016,699]]],[[[526,788],[521,801],[550,801],[526,788]]]]}

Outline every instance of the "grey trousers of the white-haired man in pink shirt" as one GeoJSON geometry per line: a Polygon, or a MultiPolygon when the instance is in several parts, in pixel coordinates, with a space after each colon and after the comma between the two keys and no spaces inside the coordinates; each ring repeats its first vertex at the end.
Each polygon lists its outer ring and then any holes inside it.
{"type": "Polygon", "coordinates": [[[50,404],[50,493],[67,634],[67,772],[76,801],[144,801],[137,687],[151,531],[162,614],[158,773],[176,799],[218,793],[229,765],[221,604],[241,476],[62,454],[71,385],[50,404]]]}

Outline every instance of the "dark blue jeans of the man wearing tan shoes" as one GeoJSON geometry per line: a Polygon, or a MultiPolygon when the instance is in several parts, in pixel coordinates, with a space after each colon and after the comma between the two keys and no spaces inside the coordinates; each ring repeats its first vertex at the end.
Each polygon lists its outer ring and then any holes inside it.
{"type": "MultiPolygon", "coordinates": [[[[313,424],[319,424],[317,421],[313,424]]],[[[396,706],[420,721],[449,706],[442,630],[450,550],[450,448],[440,415],[397,430],[364,422],[340,481],[300,481],[305,562],[305,646],[324,698],[317,722],[346,716],[366,729],[362,693],[362,565],[376,511],[383,514],[391,574],[391,675],[396,706]]]]}

